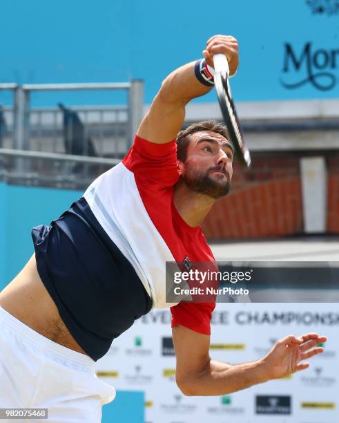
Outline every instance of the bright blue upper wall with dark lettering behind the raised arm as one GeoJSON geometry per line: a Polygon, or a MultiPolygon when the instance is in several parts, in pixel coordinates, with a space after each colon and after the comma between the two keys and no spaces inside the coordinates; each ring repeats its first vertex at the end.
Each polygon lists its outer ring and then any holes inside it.
{"type": "MultiPolygon", "coordinates": [[[[173,68],[200,57],[211,35],[226,33],[240,41],[240,69],[233,79],[237,100],[339,97],[339,55],[335,51],[339,49],[339,15],[331,15],[331,3],[3,0],[0,37],[6,41],[1,43],[0,82],[102,82],[141,77],[146,84],[145,100],[151,102],[173,68]],[[328,9],[315,13],[309,3],[324,3],[328,9]],[[311,43],[309,53],[304,52],[307,43],[311,43]],[[283,86],[302,81],[296,88],[283,86]]],[[[73,104],[115,101],[99,94],[60,97],[45,93],[35,95],[33,104],[59,100],[73,104]]],[[[200,101],[214,100],[209,95],[200,101]]],[[[1,102],[10,102],[10,95],[0,93],[1,102]]]]}

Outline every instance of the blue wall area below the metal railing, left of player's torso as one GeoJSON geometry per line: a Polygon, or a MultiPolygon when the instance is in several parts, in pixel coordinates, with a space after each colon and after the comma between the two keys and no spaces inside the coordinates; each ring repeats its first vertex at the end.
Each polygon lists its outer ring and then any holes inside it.
{"type": "Polygon", "coordinates": [[[32,227],[49,225],[81,194],[82,191],[0,183],[0,289],[33,254],[32,227]]]}

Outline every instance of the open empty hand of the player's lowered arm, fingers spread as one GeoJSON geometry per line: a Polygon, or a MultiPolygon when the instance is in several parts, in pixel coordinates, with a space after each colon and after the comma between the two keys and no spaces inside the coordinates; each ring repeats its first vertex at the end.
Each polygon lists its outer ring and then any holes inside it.
{"type": "Polygon", "coordinates": [[[280,339],[263,359],[267,379],[278,379],[299,370],[305,370],[309,367],[309,363],[300,361],[322,353],[324,349],[316,346],[325,341],[327,337],[320,337],[315,332],[307,333],[299,338],[289,335],[280,339]]]}

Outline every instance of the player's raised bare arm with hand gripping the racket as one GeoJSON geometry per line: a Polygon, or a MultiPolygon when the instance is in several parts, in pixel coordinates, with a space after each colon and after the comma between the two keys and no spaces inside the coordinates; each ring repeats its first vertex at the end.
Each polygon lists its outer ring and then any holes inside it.
{"type": "MultiPolygon", "coordinates": [[[[203,55],[213,67],[213,55],[228,57],[231,75],[238,68],[238,42],[235,38],[215,35],[206,43],[203,55]]],[[[208,93],[213,85],[205,86],[195,77],[195,62],[173,71],[164,82],[139,126],[137,135],[145,140],[164,144],[177,137],[185,118],[185,106],[195,97],[208,93]]]]}

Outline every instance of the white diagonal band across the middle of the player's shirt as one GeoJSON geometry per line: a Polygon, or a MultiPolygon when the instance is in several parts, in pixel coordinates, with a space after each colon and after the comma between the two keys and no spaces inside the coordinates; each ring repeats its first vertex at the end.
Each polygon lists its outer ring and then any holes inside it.
{"type": "Polygon", "coordinates": [[[164,239],[148,216],[134,175],[124,164],[103,173],[84,194],[99,224],[130,261],[153,299],[153,307],[165,308],[166,261],[175,261],[164,239]],[[142,263],[142,264],[140,264],[142,263]]]}

